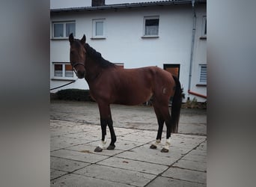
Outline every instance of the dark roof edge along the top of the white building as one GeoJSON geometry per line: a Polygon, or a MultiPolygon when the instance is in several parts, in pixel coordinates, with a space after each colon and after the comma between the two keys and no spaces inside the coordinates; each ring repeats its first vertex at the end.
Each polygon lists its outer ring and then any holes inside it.
{"type": "MultiPolygon", "coordinates": [[[[195,3],[206,3],[207,0],[195,0],[195,3]]],[[[125,4],[106,4],[97,7],[68,7],[51,9],[51,13],[59,12],[74,12],[74,11],[85,11],[85,10],[108,10],[108,9],[121,9],[121,8],[132,8],[132,7],[152,7],[152,6],[165,6],[175,4],[192,4],[191,0],[169,0],[169,1],[148,1],[148,2],[137,2],[137,3],[125,3],[125,4]]]]}

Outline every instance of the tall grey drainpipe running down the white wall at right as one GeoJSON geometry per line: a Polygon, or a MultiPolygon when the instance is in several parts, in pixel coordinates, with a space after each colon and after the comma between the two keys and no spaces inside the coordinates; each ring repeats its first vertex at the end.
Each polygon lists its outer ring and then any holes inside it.
{"type": "MultiPolygon", "coordinates": [[[[190,52],[190,63],[189,63],[189,88],[188,93],[191,92],[191,78],[192,78],[192,62],[193,62],[193,55],[194,55],[194,44],[195,44],[195,22],[196,22],[196,14],[195,14],[195,0],[192,0],[192,11],[194,14],[193,19],[193,30],[192,30],[192,43],[191,43],[191,52],[190,52]]],[[[189,98],[188,98],[189,99],[189,98]]]]}

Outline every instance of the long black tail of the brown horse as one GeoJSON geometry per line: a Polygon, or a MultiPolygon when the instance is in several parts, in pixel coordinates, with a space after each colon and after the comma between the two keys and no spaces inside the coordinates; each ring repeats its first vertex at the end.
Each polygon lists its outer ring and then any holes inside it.
{"type": "Polygon", "coordinates": [[[172,124],[171,126],[171,132],[172,133],[177,133],[178,130],[178,125],[179,125],[179,120],[180,120],[180,108],[181,108],[181,103],[182,103],[182,98],[183,98],[183,89],[180,87],[180,81],[177,79],[176,76],[172,76],[175,81],[175,93],[174,97],[171,102],[171,118],[172,118],[172,124]]]}

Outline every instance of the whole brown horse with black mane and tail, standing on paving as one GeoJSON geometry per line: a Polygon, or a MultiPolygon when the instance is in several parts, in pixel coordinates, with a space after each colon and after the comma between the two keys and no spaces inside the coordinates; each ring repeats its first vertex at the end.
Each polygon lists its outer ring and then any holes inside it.
{"type": "Polygon", "coordinates": [[[179,80],[159,67],[124,69],[106,61],[99,52],[70,34],[70,64],[79,79],[88,82],[91,96],[100,110],[102,130],[101,144],[94,150],[100,152],[106,144],[106,126],[109,126],[111,142],[108,150],[115,149],[116,136],[113,128],[110,104],[138,105],[153,98],[153,108],[158,121],[156,142],[150,146],[156,149],[162,138],[163,124],[166,125],[166,144],[161,152],[168,152],[171,132],[177,132],[182,102],[179,80]],[[173,96],[171,115],[168,103],[173,96]]]}

